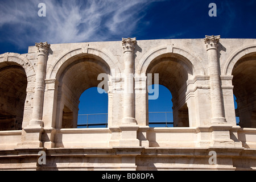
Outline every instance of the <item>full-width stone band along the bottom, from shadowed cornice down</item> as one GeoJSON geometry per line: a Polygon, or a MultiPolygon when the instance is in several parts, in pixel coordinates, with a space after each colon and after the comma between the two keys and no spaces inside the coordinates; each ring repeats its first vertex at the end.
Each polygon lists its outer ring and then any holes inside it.
{"type": "Polygon", "coordinates": [[[256,168],[255,154],[256,149],[232,147],[17,148],[0,151],[0,170],[243,170],[256,168]],[[41,150],[46,151],[47,163],[38,166],[41,150]],[[210,151],[216,151],[216,165],[208,163],[210,151]],[[99,164],[99,160],[104,164],[99,164]],[[241,163],[243,160],[246,162],[241,163]]]}

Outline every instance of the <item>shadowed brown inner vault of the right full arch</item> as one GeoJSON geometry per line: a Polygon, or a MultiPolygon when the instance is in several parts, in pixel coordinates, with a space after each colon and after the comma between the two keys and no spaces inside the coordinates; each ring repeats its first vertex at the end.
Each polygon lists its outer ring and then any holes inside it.
{"type": "Polygon", "coordinates": [[[158,84],[165,86],[172,94],[174,127],[189,127],[188,107],[185,100],[187,80],[192,75],[191,63],[182,56],[167,53],[156,57],[147,68],[147,75],[158,74],[158,84]]]}

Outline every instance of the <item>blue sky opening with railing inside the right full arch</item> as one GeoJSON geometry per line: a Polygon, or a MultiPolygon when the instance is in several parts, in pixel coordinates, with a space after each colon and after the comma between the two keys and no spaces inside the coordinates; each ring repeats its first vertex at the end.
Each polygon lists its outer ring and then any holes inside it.
{"type": "Polygon", "coordinates": [[[148,126],[174,127],[172,94],[170,90],[163,85],[152,85],[152,87],[148,87],[148,95],[152,96],[154,90],[158,90],[159,93],[158,98],[155,100],[148,100],[148,126]],[[158,89],[156,89],[157,87],[158,89]]]}

